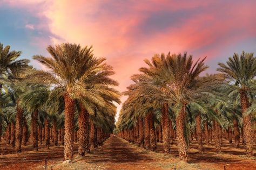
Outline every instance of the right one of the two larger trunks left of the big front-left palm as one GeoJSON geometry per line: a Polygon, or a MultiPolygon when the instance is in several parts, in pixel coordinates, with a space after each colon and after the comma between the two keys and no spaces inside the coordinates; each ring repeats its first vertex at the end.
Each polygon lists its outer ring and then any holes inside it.
{"type": "Polygon", "coordinates": [[[38,117],[38,111],[37,110],[33,111],[31,115],[31,118],[32,118],[31,132],[32,132],[33,150],[35,151],[38,151],[37,117],[38,117]]]}

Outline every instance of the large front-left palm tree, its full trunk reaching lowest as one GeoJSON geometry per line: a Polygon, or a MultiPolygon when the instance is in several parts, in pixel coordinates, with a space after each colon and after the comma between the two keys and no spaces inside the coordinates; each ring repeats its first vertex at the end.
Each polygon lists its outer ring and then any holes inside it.
{"type": "Polygon", "coordinates": [[[76,44],[61,44],[48,46],[48,52],[52,58],[46,58],[42,55],[35,55],[36,59],[48,70],[37,70],[31,75],[37,83],[43,83],[51,86],[54,93],[64,97],[65,103],[65,142],[64,156],[67,162],[73,159],[73,129],[74,114],[76,109],[75,101],[83,105],[87,103],[84,97],[90,98],[91,101],[99,103],[98,98],[94,94],[87,91],[83,84],[86,76],[90,72],[95,73],[96,70],[106,70],[109,65],[102,63],[105,58],[95,58],[92,54],[91,47],[80,47],[76,44]]]}

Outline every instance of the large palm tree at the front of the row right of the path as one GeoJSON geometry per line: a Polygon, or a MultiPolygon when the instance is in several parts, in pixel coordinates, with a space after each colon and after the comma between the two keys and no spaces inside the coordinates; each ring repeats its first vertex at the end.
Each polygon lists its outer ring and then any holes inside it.
{"type": "MultiPolygon", "coordinates": [[[[212,87],[219,84],[218,77],[206,77],[199,79],[199,74],[208,67],[204,65],[204,60],[198,60],[193,65],[192,55],[187,56],[181,54],[164,54],[155,55],[152,58],[154,65],[159,65],[159,69],[155,69],[155,76],[149,79],[150,69],[141,68],[147,79],[143,79],[148,85],[144,88],[144,94],[157,96],[158,100],[168,102],[172,106],[176,114],[176,132],[178,139],[178,150],[181,160],[187,160],[187,142],[185,138],[185,118],[187,105],[194,105],[201,108],[200,101],[210,95],[212,87]],[[150,80],[150,81],[148,81],[150,80]],[[151,83],[153,82],[153,83],[151,83]],[[158,82],[158,83],[155,83],[158,82]],[[160,89],[162,87],[162,89],[160,89]],[[163,90],[164,88],[164,90],[163,90]]],[[[150,67],[152,64],[146,60],[150,67]]],[[[144,76],[145,77],[145,76],[144,76]]],[[[163,127],[164,129],[164,127],[163,127]]]]}

